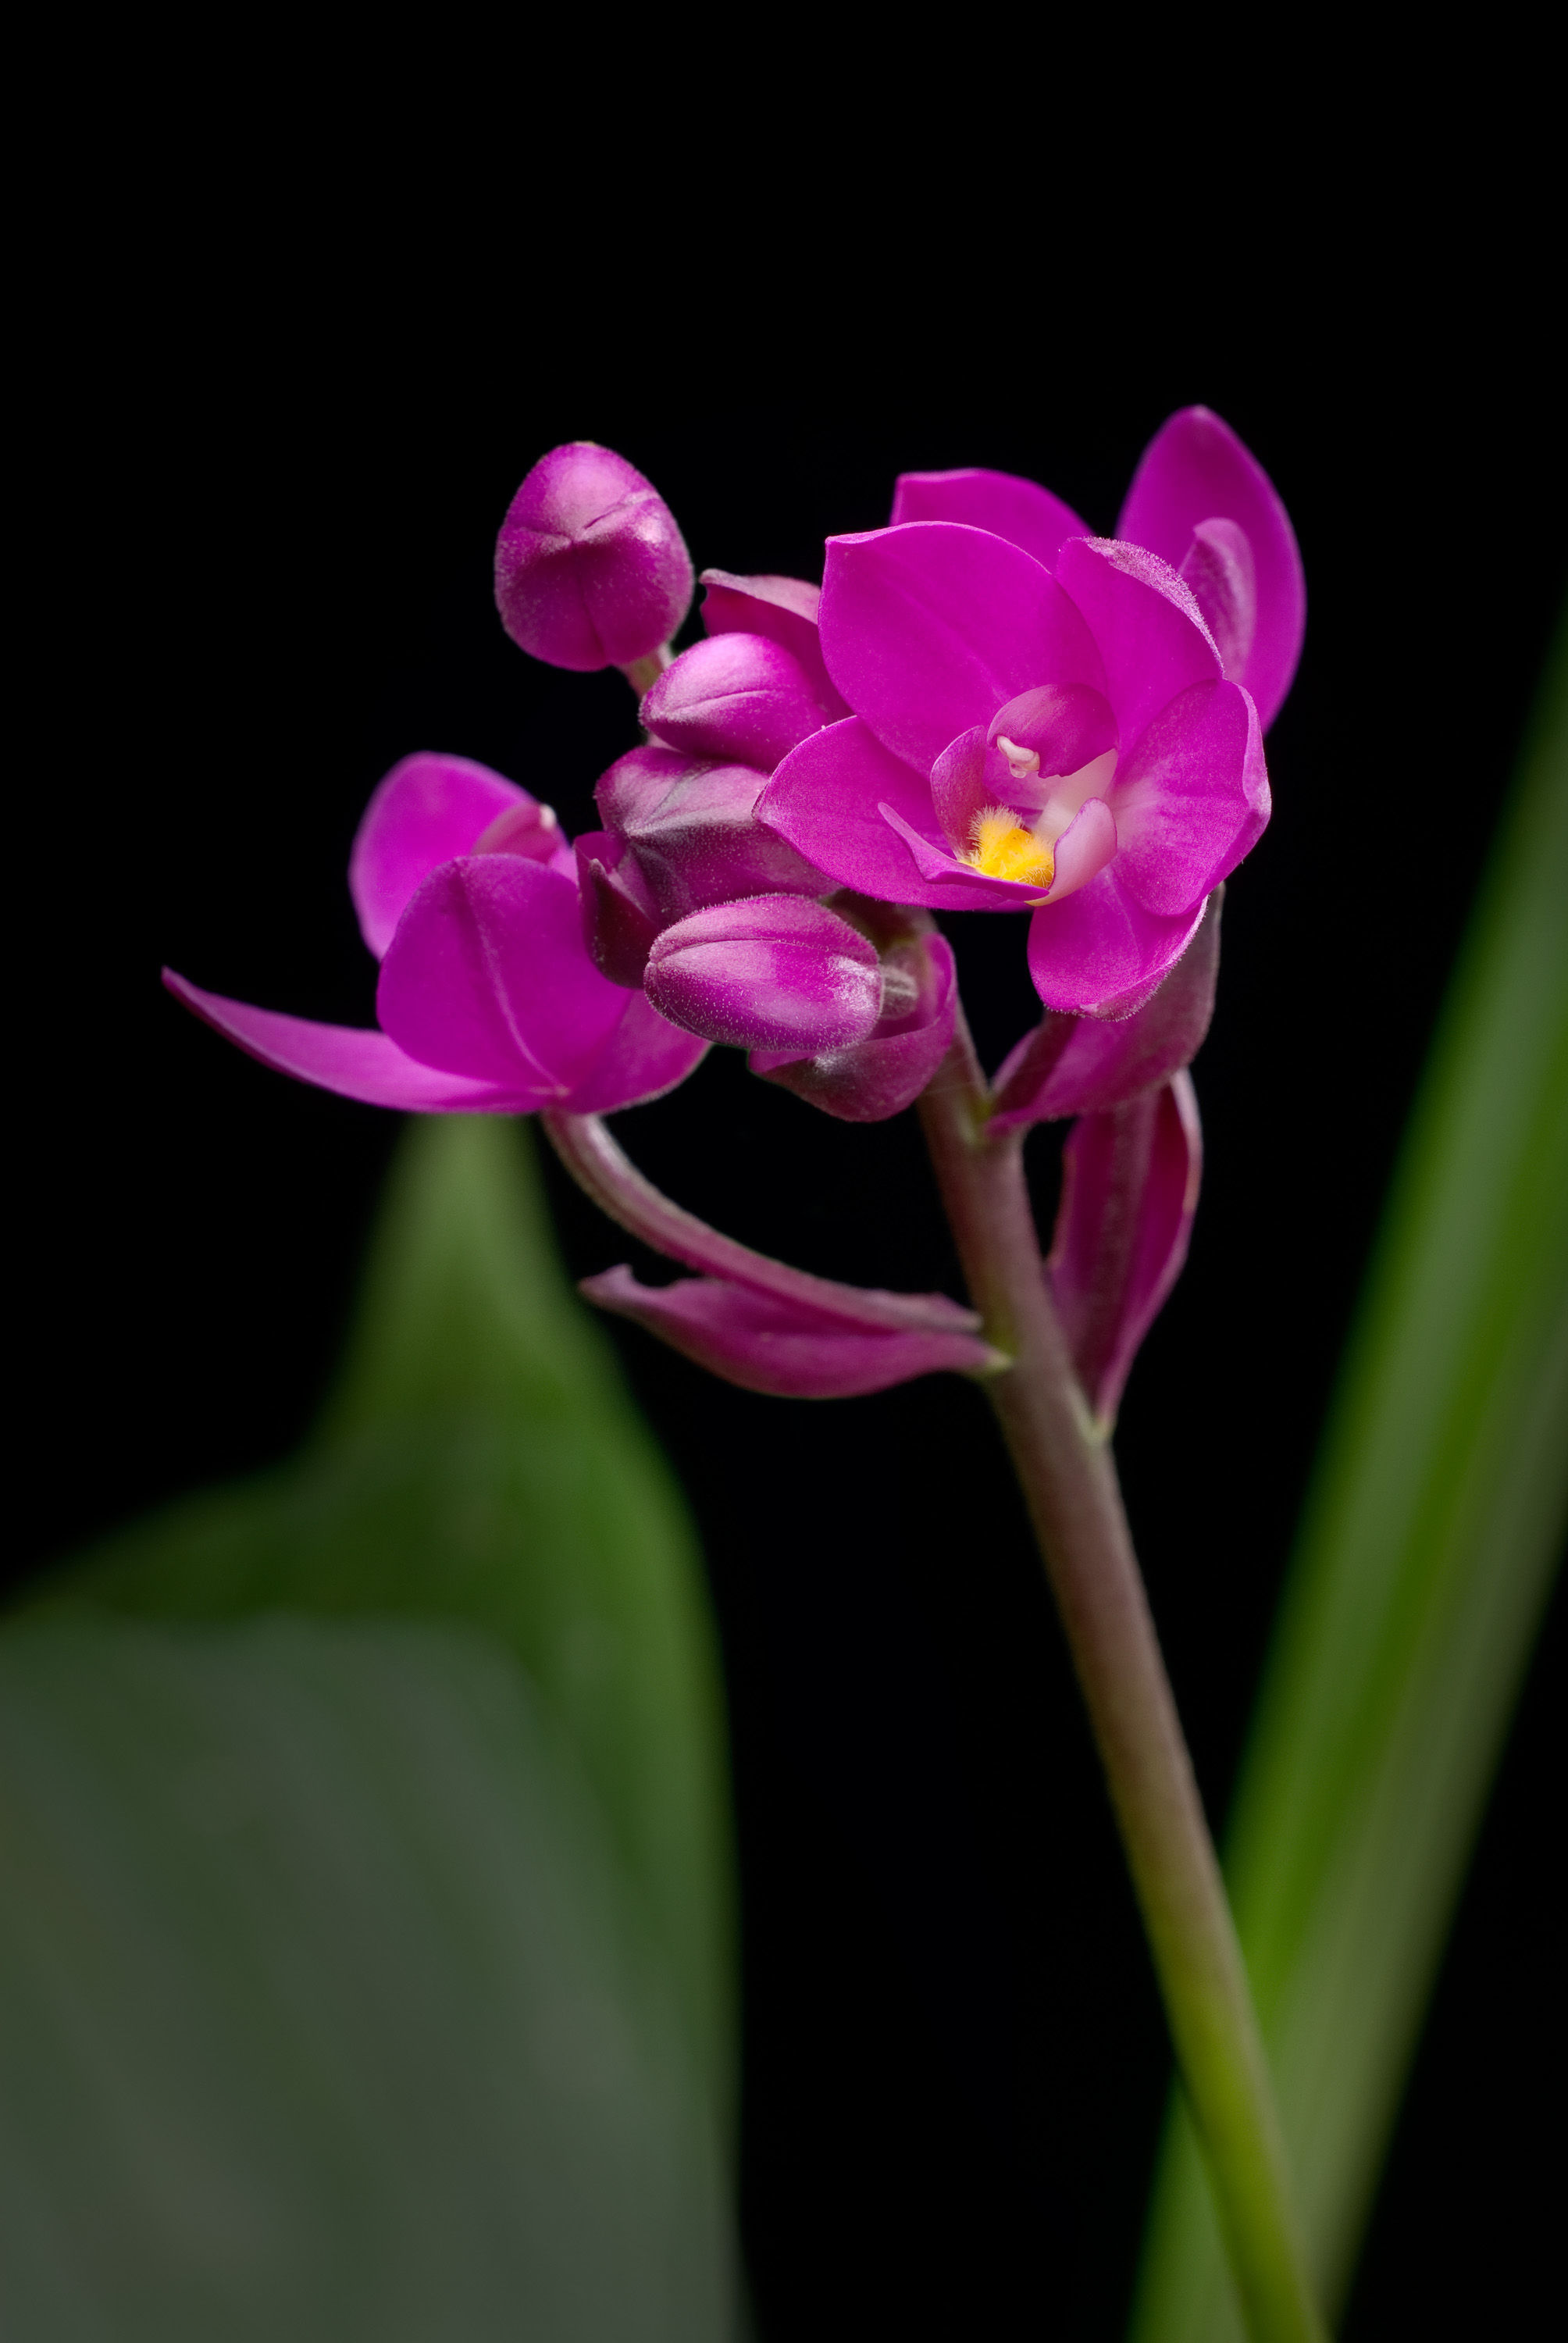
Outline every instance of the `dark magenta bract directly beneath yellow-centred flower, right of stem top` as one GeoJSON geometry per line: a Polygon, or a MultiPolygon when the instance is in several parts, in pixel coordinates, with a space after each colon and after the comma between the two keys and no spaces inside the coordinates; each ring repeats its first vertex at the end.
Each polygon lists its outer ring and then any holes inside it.
{"type": "Polygon", "coordinates": [[[1214,1015],[1223,893],[1214,888],[1198,935],[1137,1015],[1111,1022],[1048,1010],[998,1068],[987,1129],[1106,1113],[1188,1066],[1214,1015]]]}

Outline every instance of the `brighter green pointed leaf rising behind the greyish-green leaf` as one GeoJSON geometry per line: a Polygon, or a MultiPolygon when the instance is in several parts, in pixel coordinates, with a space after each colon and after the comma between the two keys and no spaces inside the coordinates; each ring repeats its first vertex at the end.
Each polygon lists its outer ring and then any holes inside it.
{"type": "Polygon", "coordinates": [[[602,1799],[727,2104],[729,1811],[701,1560],[560,1270],[523,1125],[410,1122],[349,1359],[302,1457],[136,1523],[40,1600],[497,1633],[602,1799]]]}

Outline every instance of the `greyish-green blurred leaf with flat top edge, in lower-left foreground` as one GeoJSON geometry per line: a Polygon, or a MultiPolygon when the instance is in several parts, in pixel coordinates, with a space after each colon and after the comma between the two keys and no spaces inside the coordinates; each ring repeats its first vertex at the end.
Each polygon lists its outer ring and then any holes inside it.
{"type": "Polygon", "coordinates": [[[727,2343],[717,2130],[492,1635],[0,1638],[14,2343],[727,2343]]]}

